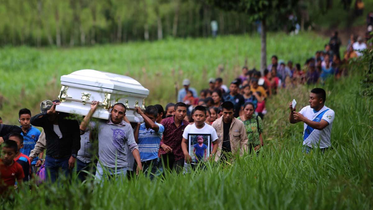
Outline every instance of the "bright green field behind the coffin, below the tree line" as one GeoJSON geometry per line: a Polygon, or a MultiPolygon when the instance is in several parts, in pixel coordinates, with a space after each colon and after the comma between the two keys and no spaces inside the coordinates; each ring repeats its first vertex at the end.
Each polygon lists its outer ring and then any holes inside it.
{"type": "MultiPolygon", "coordinates": [[[[276,54],[285,61],[303,64],[327,41],[314,33],[269,34],[268,62],[276,54]]],[[[250,68],[260,67],[260,37],[177,39],[73,49],[2,48],[0,57],[0,97],[5,98],[0,117],[4,123],[15,124],[15,113],[20,108],[37,113],[41,101],[57,98],[60,76],[81,69],[135,78],[150,90],[147,104],[175,102],[174,83],[178,82],[180,88],[184,78],[190,78],[191,86],[198,90],[208,87],[210,77],[221,76],[229,84],[241,73],[245,60],[250,68]]]]}

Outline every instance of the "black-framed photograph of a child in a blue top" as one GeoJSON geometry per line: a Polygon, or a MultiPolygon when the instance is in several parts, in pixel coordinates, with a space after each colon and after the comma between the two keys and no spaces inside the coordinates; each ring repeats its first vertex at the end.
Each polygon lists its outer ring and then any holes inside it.
{"type": "Polygon", "coordinates": [[[192,157],[192,163],[205,161],[210,156],[211,135],[200,133],[189,133],[189,155],[192,157]]]}

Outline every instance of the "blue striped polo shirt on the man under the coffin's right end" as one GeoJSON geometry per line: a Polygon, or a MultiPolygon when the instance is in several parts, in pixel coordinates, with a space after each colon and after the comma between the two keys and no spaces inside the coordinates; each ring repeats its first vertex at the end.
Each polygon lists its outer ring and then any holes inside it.
{"type": "Polygon", "coordinates": [[[153,129],[147,129],[145,123],[141,123],[139,130],[138,147],[141,162],[158,158],[159,144],[161,143],[164,127],[162,124],[155,123],[159,126],[158,132],[153,129]]]}

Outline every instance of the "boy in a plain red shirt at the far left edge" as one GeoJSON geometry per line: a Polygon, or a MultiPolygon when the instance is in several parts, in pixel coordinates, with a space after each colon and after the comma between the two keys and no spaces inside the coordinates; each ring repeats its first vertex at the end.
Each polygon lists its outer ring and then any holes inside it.
{"type": "Polygon", "coordinates": [[[0,159],[0,195],[6,195],[10,187],[14,187],[16,180],[22,183],[25,175],[22,166],[14,161],[18,151],[17,143],[13,140],[6,140],[3,143],[0,159]]]}

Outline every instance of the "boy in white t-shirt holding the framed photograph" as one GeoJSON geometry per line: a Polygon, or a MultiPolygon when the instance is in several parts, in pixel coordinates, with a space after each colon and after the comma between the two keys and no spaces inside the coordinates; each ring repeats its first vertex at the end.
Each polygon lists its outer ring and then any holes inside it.
{"type": "Polygon", "coordinates": [[[215,129],[212,126],[205,123],[206,112],[207,111],[204,106],[196,106],[194,108],[194,113],[193,113],[194,124],[188,125],[184,129],[183,139],[181,142],[181,148],[183,150],[186,163],[190,163],[192,160],[188,152],[188,142],[189,142],[188,134],[189,133],[210,135],[210,140],[213,144],[213,149],[211,151],[210,157],[213,156],[217,150],[217,146],[218,146],[217,141],[216,141],[217,134],[216,134],[215,129]]]}

